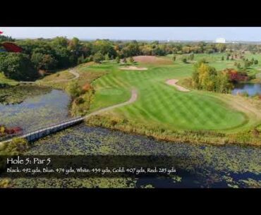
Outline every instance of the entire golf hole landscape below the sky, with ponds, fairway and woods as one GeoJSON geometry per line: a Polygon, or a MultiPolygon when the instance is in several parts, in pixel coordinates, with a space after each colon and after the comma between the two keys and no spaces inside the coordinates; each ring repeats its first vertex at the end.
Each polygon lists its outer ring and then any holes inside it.
{"type": "Polygon", "coordinates": [[[169,156],[176,171],[0,172],[0,188],[261,188],[260,44],[0,35],[1,43],[1,156],[169,156]]]}

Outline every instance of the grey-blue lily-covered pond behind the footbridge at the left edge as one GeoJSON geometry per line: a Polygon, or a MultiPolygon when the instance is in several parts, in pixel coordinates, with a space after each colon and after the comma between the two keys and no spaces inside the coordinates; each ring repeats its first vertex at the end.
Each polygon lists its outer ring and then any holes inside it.
{"type": "Polygon", "coordinates": [[[70,118],[70,97],[61,90],[29,97],[20,104],[0,104],[0,124],[18,126],[24,132],[70,118]]]}

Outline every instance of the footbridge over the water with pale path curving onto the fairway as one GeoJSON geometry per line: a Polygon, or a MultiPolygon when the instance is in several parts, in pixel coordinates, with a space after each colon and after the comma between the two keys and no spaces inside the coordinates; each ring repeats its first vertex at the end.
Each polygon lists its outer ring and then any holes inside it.
{"type": "MultiPolygon", "coordinates": [[[[19,135],[19,136],[16,136],[16,137],[25,138],[26,140],[28,140],[28,142],[33,142],[33,141],[38,140],[38,139],[45,137],[47,135],[51,135],[52,133],[56,133],[56,132],[59,132],[60,130],[64,130],[64,129],[71,127],[73,125],[78,125],[79,123],[82,123],[86,118],[89,118],[90,116],[94,116],[94,115],[97,115],[97,114],[102,113],[104,111],[109,111],[109,110],[114,109],[116,107],[125,106],[126,104],[133,103],[133,102],[135,102],[137,97],[138,97],[137,91],[132,90],[131,97],[127,102],[123,102],[121,104],[116,104],[114,106],[109,106],[107,108],[100,109],[98,111],[95,111],[95,112],[88,114],[87,116],[71,118],[68,121],[62,121],[60,123],[48,125],[45,128],[40,128],[38,130],[28,132],[28,133],[25,133],[23,135],[19,135]]],[[[13,138],[15,138],[15,137],[13,137],[13,138]]],[[[5,142],[11,142],[11,140],[13,140],[13,138],[11,138],[9,140],[5,140],[3,142],[0,142],[0,144],[5,143],[5,142]]]]}

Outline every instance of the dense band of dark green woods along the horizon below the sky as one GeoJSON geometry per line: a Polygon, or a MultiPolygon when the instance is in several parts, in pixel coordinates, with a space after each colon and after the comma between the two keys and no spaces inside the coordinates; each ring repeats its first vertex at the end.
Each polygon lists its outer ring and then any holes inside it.
{"type": "MultiPolygon", "coordinates": [[[[78,38],[67,39],[56,37],[54,39],[19,39],[0,36],[0,42],[16,42],[23,48],[22,53],[0,52],[0,71],[7,78],[15,80],[33,80],[39,76],[39,70],[57,70],[68,68],[79,63],[95,61],[109,61],[130,58],[138,55],[164,56],[189,54],[183,62],[193,61],[194,54],[224,52],[226,59],[233,60],[241,57],[243,51],[260,52],[261,46],[257,44],[215,44],[206,42],[137,42],[111,41],[109,39],[97,39],[95,41],[80,41],[78,38]],[[236,53],[238,54],[231,54],[236,53]]],[[[130,60],[132,60],[130,58],[130,60]]],[[[222,57],[224,60],[224,57],[222,57]]],[[[258,63],[257,60],[245,59],[245,65],[237,65],[238,68],[247,68],[258,63]]]]}

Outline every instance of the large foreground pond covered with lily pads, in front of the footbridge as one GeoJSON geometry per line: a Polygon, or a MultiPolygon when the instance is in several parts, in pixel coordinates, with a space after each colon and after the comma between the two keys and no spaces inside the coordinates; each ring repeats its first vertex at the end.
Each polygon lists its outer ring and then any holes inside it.
{"type": "Polygon", "coordinates": [[[16,179],[18,188],[261,188],[261,149],[215,147],[153,140],[81,124],[34,142],[32,155],[167,155],[177,161],[174,177],[16,179]]]}

